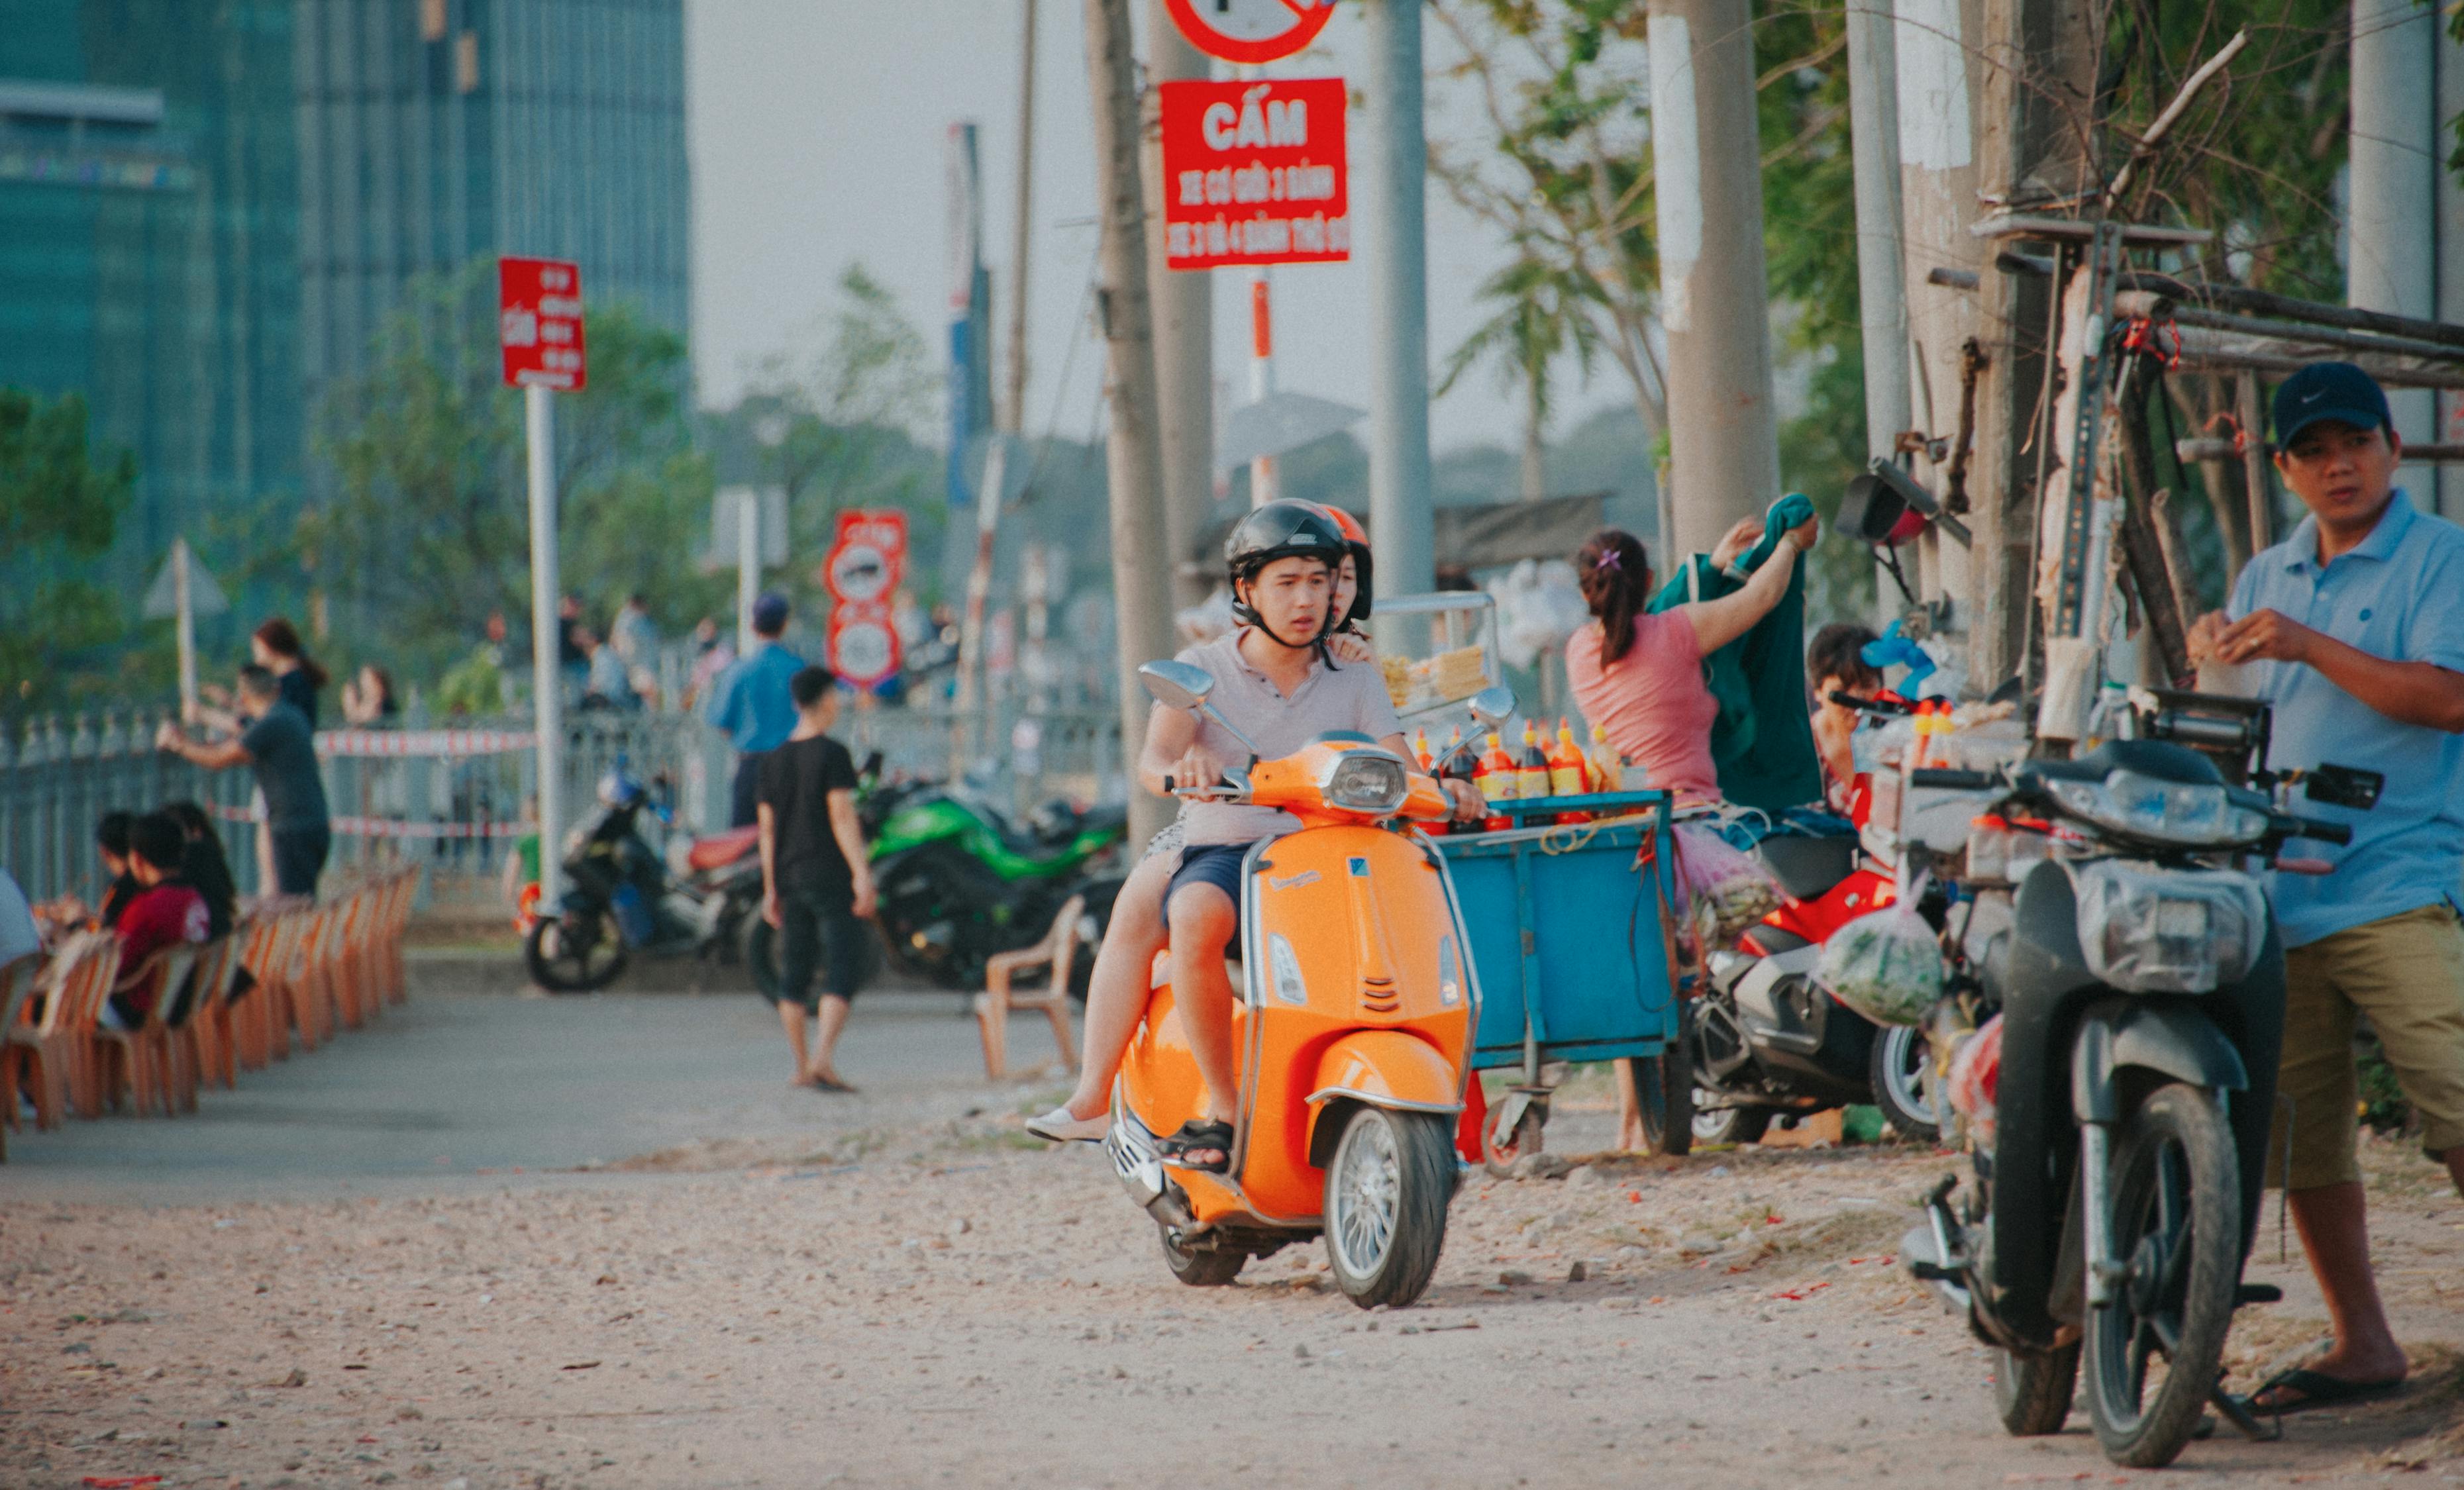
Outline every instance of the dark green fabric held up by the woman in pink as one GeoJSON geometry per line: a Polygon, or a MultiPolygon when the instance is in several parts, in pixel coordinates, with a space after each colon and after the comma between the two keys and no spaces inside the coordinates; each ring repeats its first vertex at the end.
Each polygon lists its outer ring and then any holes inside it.
{"type": "MultiPolygon", "coordinates": [[[[1688,601],[1717,601],[1745,589],[1745,576],[1779,552],[1781,534],[1814,517],[1814,502],[1789,493],[1772,505],[1762,537],[1722,574],[1710,554],[1690,554],[1651,596],[1651,611],[1688,601]]],[[[1789,594],[1752,630],[1703,658],[1703,685],[1720,717],[1710,727],[1710,759],[1720,768],[1720,795],[1740,808],[1779,813],[1823,795],[1814,719],[1806,714],[1806,564],[1799,554],[1789,594]]]]}

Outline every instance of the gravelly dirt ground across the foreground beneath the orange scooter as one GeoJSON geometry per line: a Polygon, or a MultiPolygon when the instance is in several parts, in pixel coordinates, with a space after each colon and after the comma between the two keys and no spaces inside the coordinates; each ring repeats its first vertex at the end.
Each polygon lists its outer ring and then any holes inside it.
{"type": "MultiPolygon", "coordinates": [[[[0,1485],[2136,1478],[2085,1411],[2006,1438],[1984,1352],[1890,1266],[1937,1155],[1476,1177],[1427,1300],[1360,1313],[1318,1246],[1173,1283],[1099,1155],[998,1103],[488,1192],[59,1204],[0,1177],[0,1485]]],[[[1607,1133],[1565,1106],[1552,1143],[1607,1133]]],[[[2420,1387],[2195,1443],[2168,1483],[2464,1483],[2464,1204],[2395,1145],[2368,1162],[2420,1387]]],[[[2324,1335],[2272,1226],[2252,1276],[2289,1298],[2245,1313],[2245,1382],[2324,1335]]]]}

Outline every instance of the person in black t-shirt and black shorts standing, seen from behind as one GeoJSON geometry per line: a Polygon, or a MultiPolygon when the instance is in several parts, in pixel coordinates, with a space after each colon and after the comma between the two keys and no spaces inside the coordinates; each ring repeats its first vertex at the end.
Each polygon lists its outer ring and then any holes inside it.
{"type": "Polygon", "coordinates": [[[756,813],[761,825],[761,919],[779,928],[779,1025],[796,1052],[796,1086],[855,1091],[838,1079],[838,1034],[862,965],[872,914],[872,860],[855,820],[855,756],[825,731],[838,719],[828,667],[788,680],[796,731],[761,756],[756,813]],[[828,948],[828,990],[813,1000],[813,963],[828,948]],[[821,1042],[806,1059],[803,1022],[821,1017],[821,1042]]]}

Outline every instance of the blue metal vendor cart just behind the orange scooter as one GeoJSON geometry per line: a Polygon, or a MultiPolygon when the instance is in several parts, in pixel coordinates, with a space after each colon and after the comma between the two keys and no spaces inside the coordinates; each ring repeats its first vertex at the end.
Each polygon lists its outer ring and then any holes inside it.
{"type": "Polygon", "coordinates": [[[1678,1039],[1671,798],[1621,791],[1493,805],[1518,820],[1570,810],[1614,818],[1437,840],[1481,980],[1471,1064],[1523,1076],[1483,1130],[1498,1170],[1540,1150],[1545,1061],[1653,1059],[1678,1039]]]}

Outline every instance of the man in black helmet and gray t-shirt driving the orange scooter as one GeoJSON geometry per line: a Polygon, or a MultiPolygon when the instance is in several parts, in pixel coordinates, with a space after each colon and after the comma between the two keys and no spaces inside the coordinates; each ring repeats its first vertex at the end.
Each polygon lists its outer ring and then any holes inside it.
{"type": "MultiPolygon", "coordinates": [[[[1180,660],[1215,680],[1207,702],[1249,736],[1262,759],[1289,756],[1328,729],[1355,729],[1409,759],[1385,677],[1375,667],[1328,662],[1321,645],[1348,547],[1345,532],[1311,502],[1269,502],[1225,539],[1237,626],[1220,640],[1183,650],[1180,660]]],[[[1163,793],[1165,783],[1215,783],[1227,768],[1247,763],[1249,751],[1222,724],[1158,704],[1138,754],[1138,783],[1163,793]]],[[[1456,815],[1481,810],[1469,783],[1449,783],[1449,795],[1456,815]]],[[[1239,1103],[1225,948],[1239,931],[1239,867],[1252,842],[1291,828],[1296,820],[1274,808],[1193,800],[1185,810],[1185,847],[1163,892],[1163,921],[1170,928],[1173,997],[1205,1098],[1180,1130],[1156,1145],[1165,1162],[1217,1172],[1230,1162],[1239,1103]]],[[[1131,941],[1141,941],[1141,928],[1124,926],[1116,914],[1106,933],[1116,965],[1131,941]],[[1114,948],[1114,936],[1129,941],[1114,948]]],[[[1099,968],[1104,960],[1099,953],[1099,968]]],[[[1133,965],[1143,970],[1143,960],[1133,965]]]]}

